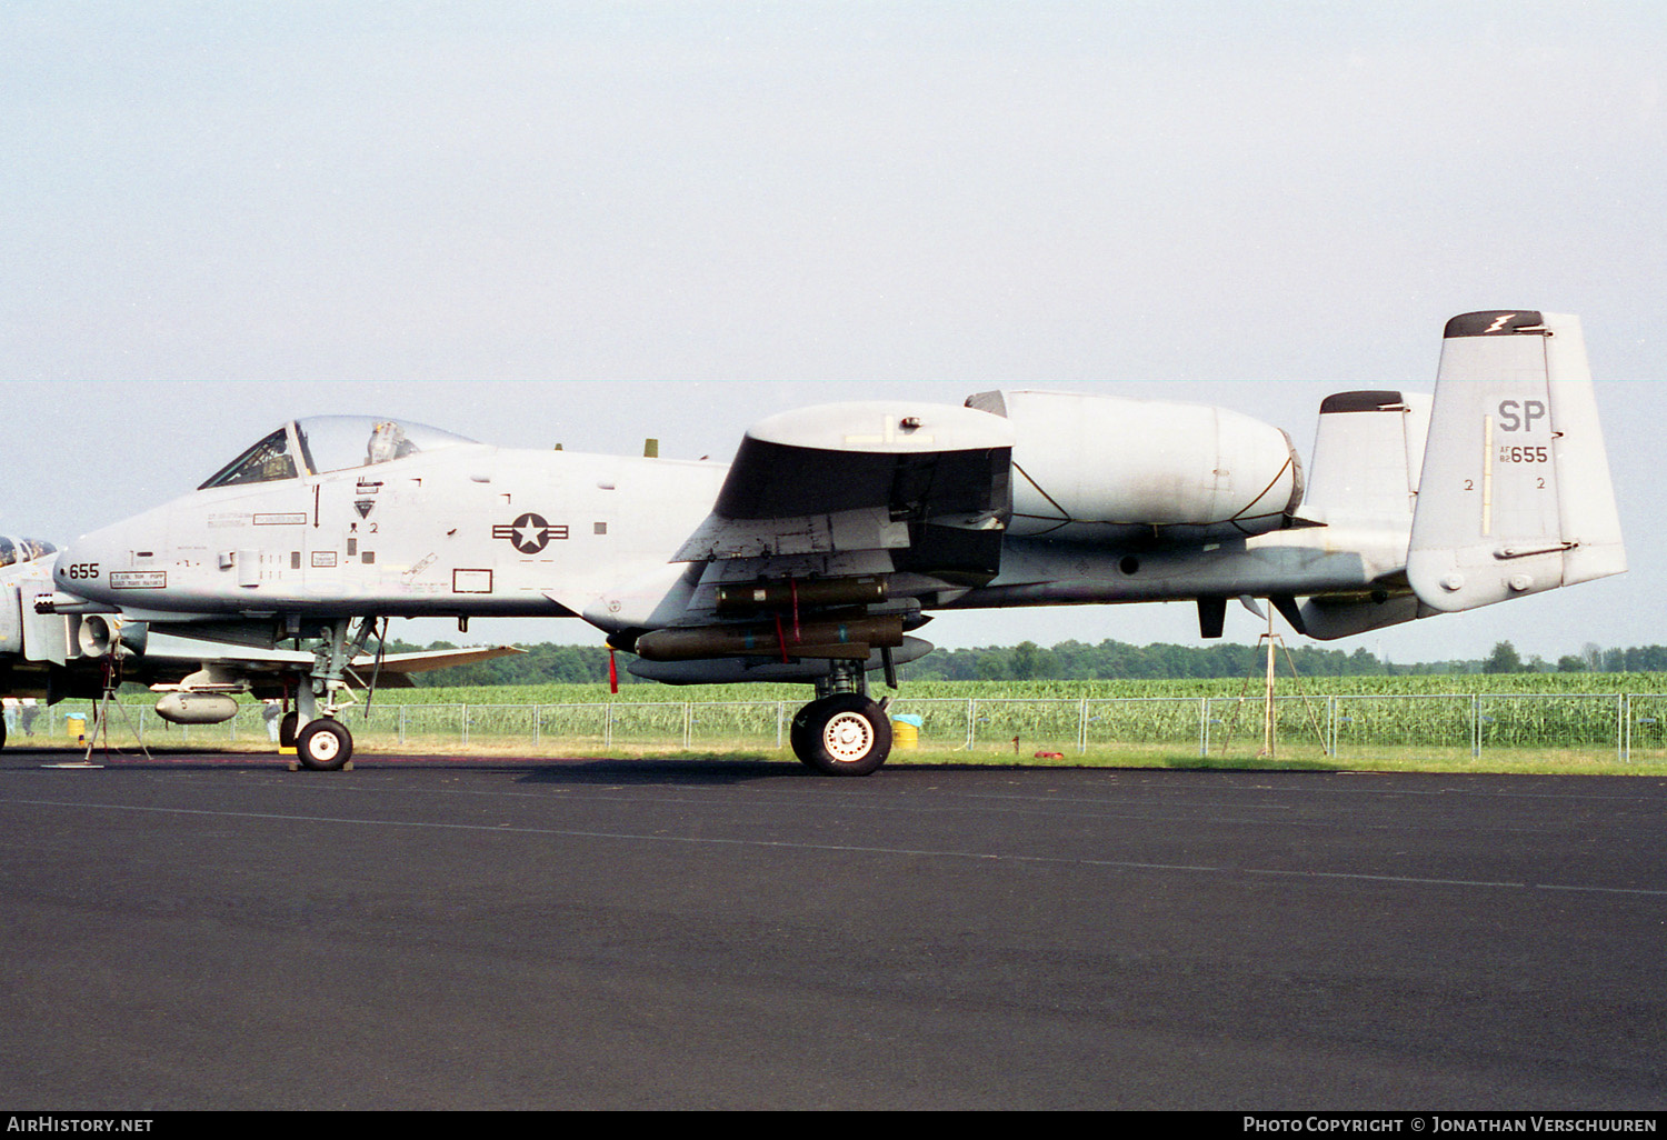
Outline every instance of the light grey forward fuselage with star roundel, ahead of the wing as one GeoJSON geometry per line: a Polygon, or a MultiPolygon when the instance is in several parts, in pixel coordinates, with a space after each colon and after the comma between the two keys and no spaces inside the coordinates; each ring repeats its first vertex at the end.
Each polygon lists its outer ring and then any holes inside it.
{"type": "Polygon", "coordinates": [[[663,567],[722,463],[478,443],[208,487],[77,540],[70,593],[128,613],[577,613],[663,567]]]}

